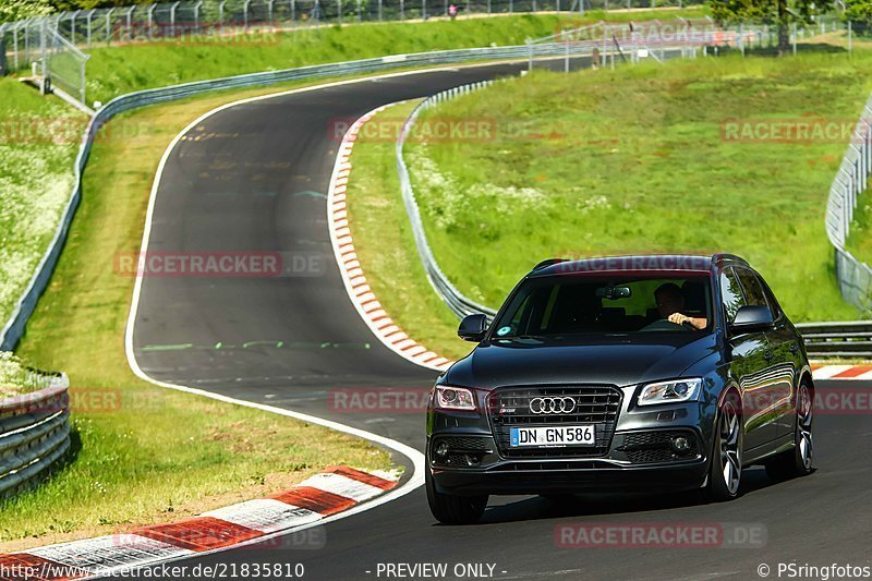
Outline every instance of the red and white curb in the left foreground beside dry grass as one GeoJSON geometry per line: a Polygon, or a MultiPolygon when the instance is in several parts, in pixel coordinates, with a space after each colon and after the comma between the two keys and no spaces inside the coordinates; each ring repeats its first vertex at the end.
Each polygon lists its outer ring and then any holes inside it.
{"type": "Polygon", "coordinates": [[[265,541],[371,500],[397,486],[398,480],[396,473],[336,467],[269,498],[181,522],[0,555],[0,580],[83,579],[265,541]]]}

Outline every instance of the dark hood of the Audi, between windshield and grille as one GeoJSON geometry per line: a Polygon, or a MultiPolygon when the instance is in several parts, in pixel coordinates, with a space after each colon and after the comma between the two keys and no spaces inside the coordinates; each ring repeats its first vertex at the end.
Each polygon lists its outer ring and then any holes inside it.
{"type": "Polygon", "coordinates": [[[543,384],[633,385],[679,377],[717,349],[716,335],[602,336],[485,342],[458,361],[443,383],[491,389],[543,384]]]}

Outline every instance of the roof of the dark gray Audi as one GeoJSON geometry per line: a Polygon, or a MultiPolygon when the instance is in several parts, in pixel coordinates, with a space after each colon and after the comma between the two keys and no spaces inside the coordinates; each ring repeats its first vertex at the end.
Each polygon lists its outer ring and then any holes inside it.
{"type": "Polygon", "coordinates": [[[710,273],[724,263],[748,264],[732,254],[633,254],[583,259],[550,258],[537,264],[530,277],[550,275],[595,275],[598,273],[710,273]]]}

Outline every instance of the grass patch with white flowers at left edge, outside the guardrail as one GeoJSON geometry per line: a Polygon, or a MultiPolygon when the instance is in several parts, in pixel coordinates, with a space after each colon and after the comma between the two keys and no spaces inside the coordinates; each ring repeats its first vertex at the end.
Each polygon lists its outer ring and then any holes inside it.
{"type": "Polygon", "coordinates": [[[0,327],[55,235],[85,116],[0,78],[0,327]]]}

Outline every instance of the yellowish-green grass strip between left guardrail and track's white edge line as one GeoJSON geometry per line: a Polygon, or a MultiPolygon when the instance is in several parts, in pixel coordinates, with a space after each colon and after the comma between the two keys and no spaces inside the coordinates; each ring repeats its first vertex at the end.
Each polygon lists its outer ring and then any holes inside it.
{"type": "Polygon", "coordinates": [[[0,552],[177,520],[284,489],[328,464],[390,465],[387,452],[363,440],[159,388],[128,366],[133,279],[114,273],[112,256],[140,247],[160,156],[192,119],[264,93],[125,114],[97,141],[70,240],[17,350],[69,374],[77,451],[41,486],[0,505],[0,552]],[[101,404],[106,398],[118,404],[101,404]]]}

